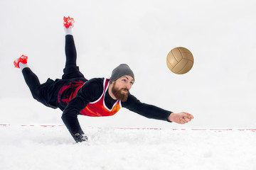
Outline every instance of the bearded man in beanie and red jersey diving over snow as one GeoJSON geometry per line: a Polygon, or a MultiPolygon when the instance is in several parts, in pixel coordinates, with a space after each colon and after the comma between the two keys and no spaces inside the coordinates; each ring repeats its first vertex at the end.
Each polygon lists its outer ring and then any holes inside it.
{"type": "Polygon", "coordinates": [[[188,123],[193,115],[172,113],[156,106],[141,103],[129,93],[134,84],[134,73],[127,64],[120,64],[112,71],[110,79],[87,80],[76,65],[77,54],[72,35],[74,20],[64,17],[66,62],[62,79],[48,79],[40,84],[38,77],[27,65],[28,57],[22,55],[14,61],[21,69],[33,98],[50,108],[60,108],[62,119],[75,142],[87,141],[78,122],[78,115],[110,116],[124,107],[146,118],[166,120],[179,124],[188,123]]]}

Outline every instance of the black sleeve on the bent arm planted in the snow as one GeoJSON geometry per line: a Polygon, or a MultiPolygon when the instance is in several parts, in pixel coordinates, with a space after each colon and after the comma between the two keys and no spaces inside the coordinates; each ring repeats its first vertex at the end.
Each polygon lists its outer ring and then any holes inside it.
{"type": "Polygon", "coordinates": [[[76,134],[84,134],[78,122],[78,115],[83,108],[87,106],[87,103],[96,101],[103,92],[103,79],[91,79],[79,89],[78,94],[68,103],[68,106],[63,111],[61,116],[63,123],[68,128],[70,134],[74,137],[76,142],[80,142],[76,139],[76,134]]]}

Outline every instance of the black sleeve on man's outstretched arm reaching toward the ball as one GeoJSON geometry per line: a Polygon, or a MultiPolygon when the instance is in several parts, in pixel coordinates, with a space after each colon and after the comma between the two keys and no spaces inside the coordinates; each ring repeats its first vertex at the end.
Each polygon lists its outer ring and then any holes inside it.
{"type": "Polygon", "coordinates": [[[171,111],[166,111],[162,108],[142,103],[135,96],[132,96],[132,94],[129,94],[126,102],[122,102],[122,106],[139,115],[143,115],[146,118],[154,118],[158,120],[169,121],[168,117],[172,113],[171,111]]]}

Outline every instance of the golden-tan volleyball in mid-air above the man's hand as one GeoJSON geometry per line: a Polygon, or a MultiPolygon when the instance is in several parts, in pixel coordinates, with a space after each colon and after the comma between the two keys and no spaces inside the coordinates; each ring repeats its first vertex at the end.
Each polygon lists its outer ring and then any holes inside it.
{"type": "Polygon", "coordinates": [[[185,74],[193,67],[193,55],[185,47],[176,47],[166,57],[167,67],[175,74],[185,74]]]}

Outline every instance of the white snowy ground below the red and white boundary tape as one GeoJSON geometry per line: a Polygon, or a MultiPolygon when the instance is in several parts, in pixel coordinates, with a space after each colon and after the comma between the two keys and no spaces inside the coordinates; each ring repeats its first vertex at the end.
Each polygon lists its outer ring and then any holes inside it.
{"type": "Polygon", "coordinates": [[[0,169],[256,169],[252,131],[0,126],[0,169]]]}

